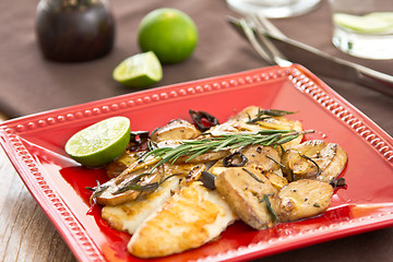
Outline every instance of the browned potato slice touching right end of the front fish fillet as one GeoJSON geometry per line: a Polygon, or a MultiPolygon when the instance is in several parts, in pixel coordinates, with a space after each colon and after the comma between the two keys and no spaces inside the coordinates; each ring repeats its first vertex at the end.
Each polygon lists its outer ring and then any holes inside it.
{"type": "Polygon", "coordinates": [[[264,195],[277,190],[260,171],[243,167],[226,168],[215,179],[215,186],[231,210],[248,225],[255,229],[273,226],[274,217],[263,200],[264,195]]]}

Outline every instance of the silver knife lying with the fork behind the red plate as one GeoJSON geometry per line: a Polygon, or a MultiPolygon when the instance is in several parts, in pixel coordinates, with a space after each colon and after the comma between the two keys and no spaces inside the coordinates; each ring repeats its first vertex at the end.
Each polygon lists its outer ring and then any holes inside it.
{"type": "MultiPolygon", "coordinates": [[[[228,16],[227,22],[246,37],[245,31],[238,19],[228,16]]],[[[259,32],[261,32],[261,28],[259,28],[259,32]]],[[[269,37],[271,43],[274,44],[275,48],[278,49],[286,60],[300,63],[301,66],[311,69],[315,74],[355,82],[393,96],[392,75],[335,58],[313,47],[290,39],[283,34],[272,34],[271,31],[269,33],[263,33],[265,37],[269,37]]]]}

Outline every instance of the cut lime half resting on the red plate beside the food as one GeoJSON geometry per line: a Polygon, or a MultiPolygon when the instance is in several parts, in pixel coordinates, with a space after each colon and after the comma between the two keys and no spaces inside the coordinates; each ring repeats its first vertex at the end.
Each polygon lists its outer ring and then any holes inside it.
{"type": "Polygon", "coordinates": [[[83,166],[103,166],[121,156],[130,142],[130,120],[112,117],[94,123],[66,143],[66,152],[83,166]]]}

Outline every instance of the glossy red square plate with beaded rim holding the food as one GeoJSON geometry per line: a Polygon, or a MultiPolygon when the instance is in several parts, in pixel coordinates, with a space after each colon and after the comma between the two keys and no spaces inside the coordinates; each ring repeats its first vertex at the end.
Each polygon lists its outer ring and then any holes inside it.
{"type": "Polygon", "coordinates": [[[348,186],[335,192],[321,216],[260,231],[238,222],[216,241],[158,261],[243,261],[393,225],[392,138],[300,66],[164,86],[10,120],[0,126],[0,141],[79,260],[142,261],[127,253],[130,236],[109,228],[100,207],[88,204],[85,187],[107,180],[104,169],[71,160],[66,141],[112,116],[129,117],[134,131],[152,131],[175,118],[190,120],[190,108],[225,121],[250,105],[298,111],[290,117],[318,131],[307,140],[338,143],[348,154],[348,186]]]}

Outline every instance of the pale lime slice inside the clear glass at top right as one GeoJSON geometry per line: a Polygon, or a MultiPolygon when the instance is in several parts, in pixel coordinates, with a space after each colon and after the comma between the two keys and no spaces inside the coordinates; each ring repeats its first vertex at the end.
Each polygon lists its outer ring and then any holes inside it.
{"type": "Polygon", "coordinates": [[[333,21],[338,26],[359,33],[383,33],[391,29],[392,24],[379,17],[335,13],[333,21]]]}

